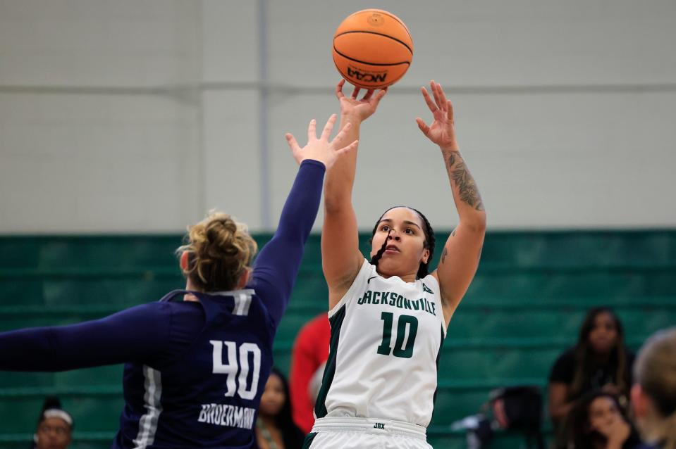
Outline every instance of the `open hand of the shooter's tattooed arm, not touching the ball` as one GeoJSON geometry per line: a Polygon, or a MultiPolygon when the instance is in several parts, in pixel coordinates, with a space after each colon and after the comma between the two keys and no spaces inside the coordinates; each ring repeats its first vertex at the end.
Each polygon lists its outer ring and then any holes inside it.
{"type": "Polygon", "coordinates": [[[428,126],[422,118],[417,117],[415,121],[418,123],[418,127],[422,133],[435,144],[441,146],[442,150],[458,151],[459,148],[455,140],[453,104],[450,103],[450,100],[446,99],[443,89],[441,89],[441,84],[430,81],[429,87],[434,96],[434,101],[429,96],[427,89],[421,87],[420,91],[425,103],[427,103],[427,107],[432,115],[434,115],[434,122],[428,126]]]}

